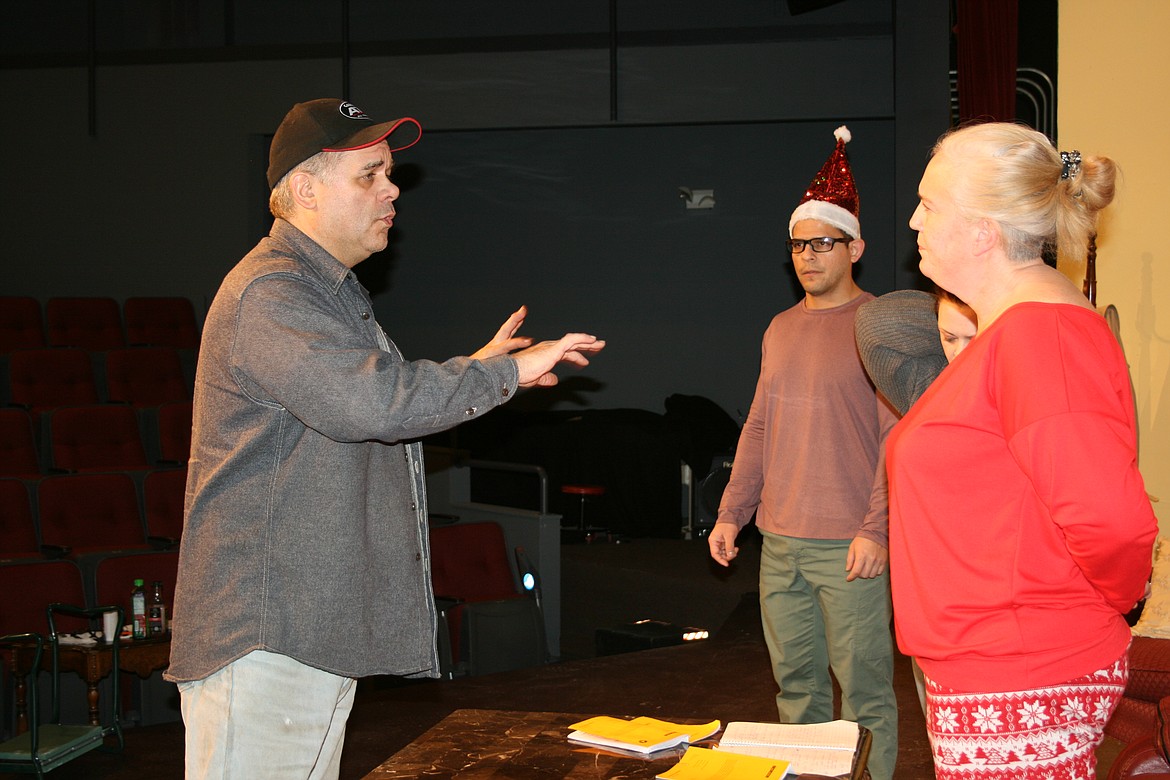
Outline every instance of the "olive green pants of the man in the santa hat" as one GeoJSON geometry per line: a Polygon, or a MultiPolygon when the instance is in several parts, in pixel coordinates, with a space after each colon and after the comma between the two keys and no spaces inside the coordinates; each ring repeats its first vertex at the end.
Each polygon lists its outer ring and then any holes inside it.
{"type": "Polygon", "coordinates": [[[889,573],[846,582],[848,540],[763,537],[759,608],[780,688],[780,722],[833,719],[832,668],[841,685],[841,718],[873,732],[873,780],[890,780],[897,760],[897,699],[889,573]]]}

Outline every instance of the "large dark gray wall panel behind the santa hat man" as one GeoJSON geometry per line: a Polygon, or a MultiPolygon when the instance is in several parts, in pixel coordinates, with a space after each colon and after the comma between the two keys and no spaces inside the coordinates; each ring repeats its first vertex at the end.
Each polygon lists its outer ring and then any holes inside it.
{"type": "MultiPolygon", "coordinates": [[[[894,287],[892,120],[853,122],[867,250],[859,272],[894,287]]],[[[746,414],[771,317],[797,301],[782,241],[833,147],[835,123],[433,132],[398,154],[388,253],[359,267],[411,357],[466,354],[519,304],[525,331],[584,330],[606,351],[564,370],[563,393],[521,403],[662,410],[672,393],[746,414]],[[689,210],[679,187],[710,188],[689,210]]]]}

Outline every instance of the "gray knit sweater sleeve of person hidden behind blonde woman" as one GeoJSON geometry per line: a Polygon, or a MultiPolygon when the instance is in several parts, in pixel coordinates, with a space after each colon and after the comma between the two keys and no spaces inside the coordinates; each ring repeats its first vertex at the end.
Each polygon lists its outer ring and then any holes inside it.
{"type": "Polygon", "coordinates": [[[947,367],[935,296],[929,292],[895,290],[862,304],[854,334],[866,372],[899,414],[906,414],[947,367]]]}

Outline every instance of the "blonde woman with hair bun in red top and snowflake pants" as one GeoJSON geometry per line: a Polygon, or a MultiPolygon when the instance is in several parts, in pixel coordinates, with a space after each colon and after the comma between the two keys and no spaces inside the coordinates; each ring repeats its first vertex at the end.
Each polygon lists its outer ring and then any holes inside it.
{"type": "Polygon", "coordinates": [[[1157,530],[1128,371],[1042,260],[1083,256],[1115,177],[991,123],[944,136],[918,188],[920,267],[978,322],[887,441],[897,639],[941,780],[1092,779],[1128,677],[1157,530]]]}

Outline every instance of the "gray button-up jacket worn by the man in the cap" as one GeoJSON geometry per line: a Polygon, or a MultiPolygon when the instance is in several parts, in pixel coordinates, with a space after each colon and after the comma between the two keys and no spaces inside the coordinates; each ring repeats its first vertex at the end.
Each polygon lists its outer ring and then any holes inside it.
{"type": "Polygon", "coordinates": [[[510,399],[509,357],[405,361],[353,274],[288,222],[204,326],[166,677],[262,649],[435,676],[417,440],[510,399]]]}

